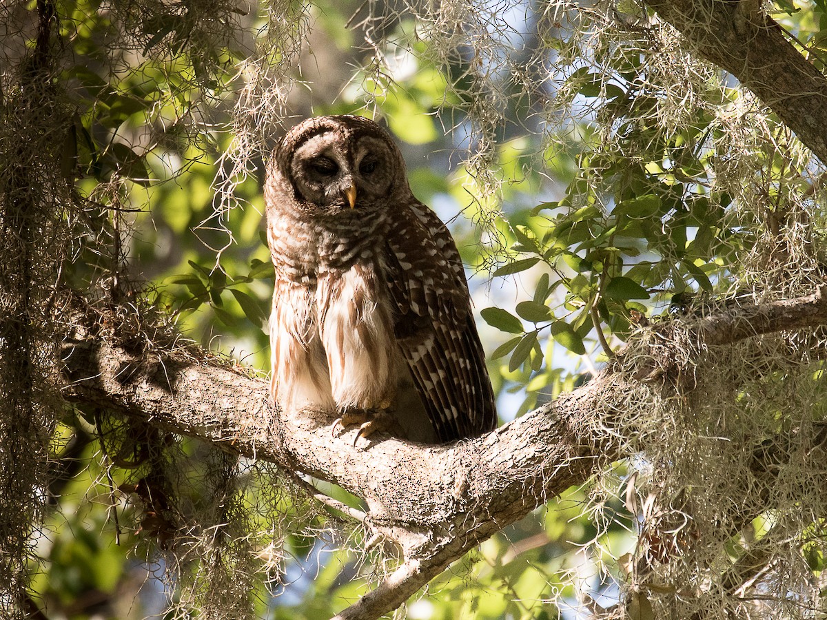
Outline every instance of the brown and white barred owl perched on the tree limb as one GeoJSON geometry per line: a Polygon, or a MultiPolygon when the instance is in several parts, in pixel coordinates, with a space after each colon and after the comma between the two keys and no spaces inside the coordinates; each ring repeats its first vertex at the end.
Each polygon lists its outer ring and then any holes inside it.
{"type": "Polygon", "coordinates": [[[362,423],[356,440],[387,416],[414,441],[495,427],[457,246],[414,198],[385,130],[355,116],[299,123],[275,150],[265,202],[271,389],[284,412],[362,423]]]}

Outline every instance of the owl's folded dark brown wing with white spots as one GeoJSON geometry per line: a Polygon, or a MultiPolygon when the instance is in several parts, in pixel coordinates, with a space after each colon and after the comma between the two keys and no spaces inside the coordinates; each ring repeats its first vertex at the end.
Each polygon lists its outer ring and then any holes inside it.
{"type": "Polygon", "coordinates": [[[440,441],[496,427],[494,393],[451,233],[421,203],[396,212],[386,278],[394,331],[440,441]]]}

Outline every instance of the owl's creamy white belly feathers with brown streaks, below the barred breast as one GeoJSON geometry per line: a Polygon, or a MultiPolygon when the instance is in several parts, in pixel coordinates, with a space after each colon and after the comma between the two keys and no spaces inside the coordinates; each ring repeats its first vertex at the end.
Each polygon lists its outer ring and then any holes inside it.
{"type": "Polygon", "coordinates": [[[374,270],[357,264],[318,274],[315,290],[276,286],[284,290],[270,317],[272,389],[280,407],[288,413],[388,408],[406,367],[374,270]]]}

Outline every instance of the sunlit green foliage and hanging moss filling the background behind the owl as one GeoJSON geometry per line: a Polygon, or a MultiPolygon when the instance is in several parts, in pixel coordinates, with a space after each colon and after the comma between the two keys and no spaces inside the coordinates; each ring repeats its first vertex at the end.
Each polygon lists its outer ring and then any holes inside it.
{"type": "MultiPolygon", "coordinates": [[[[825,3],[769,10],[823,70],[825,3]]],[[[52,58],[43,75],[62,108],[44,131],[78,207],[61,282],[134,308],[146,296],[181,334],[262,376],[264,165],[310,114],[365,114],[399,139],[414,193],[450,222],[468,265],[504,422],[586,382],[648,320],[735,293],[803,294],[820,278],[823,166],[636,2],[38,0],[0,16],[4,106],[26,94],[32,55],[52,58]]],[[[55,427],[28,567],[48,618],[145,618],[178,596],[165,524],[139,501],[140,455],[108,446],[109,424],[74,408],[55,427]]],[[[193,441],[179,450],[182,478],[203,479],[188,501],[208,506],[214,455],[193,441]]],[[[453,565],[408,617],[611,607],[641,532],[629,474],[652,475],[654,462],[618,462],[553,498],[453,565]]],[[[259,549],[275,580],[251,579],[256,611],[329,618],[378,569],[335,516],[293,502],[276,498],[299,526],[278,557],[259,549]]],[[[268,527],[260,518],[251,531],[268,527]]],[[[801,546],[816,581],[823,518],[801,546]]],[[[640,601],[636,618],[651,618],[640,601]]]]}

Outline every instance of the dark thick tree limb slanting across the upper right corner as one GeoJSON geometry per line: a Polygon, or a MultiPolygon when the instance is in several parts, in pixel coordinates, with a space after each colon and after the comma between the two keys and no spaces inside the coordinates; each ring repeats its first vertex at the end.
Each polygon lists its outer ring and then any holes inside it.
{"type": "Polygon", "coordinates": [[[750,0],[645,0],[706,60],[755,93],[827,163],[827,79],[750,0]]]}

